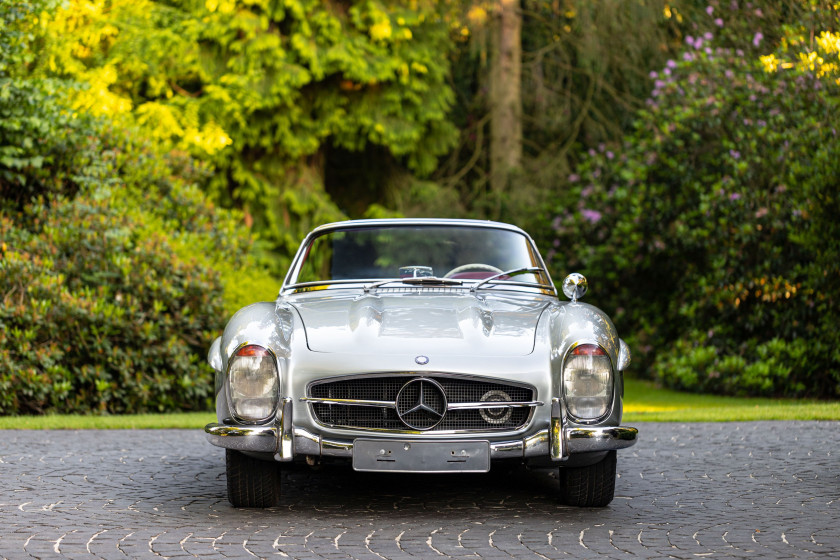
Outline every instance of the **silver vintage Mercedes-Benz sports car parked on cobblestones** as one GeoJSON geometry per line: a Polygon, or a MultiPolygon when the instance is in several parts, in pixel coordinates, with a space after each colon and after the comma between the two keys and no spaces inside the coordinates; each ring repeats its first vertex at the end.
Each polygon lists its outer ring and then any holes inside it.
{"type": "Polygon", "coordinates": [[[315,229],[276,301],[236,313],[208,355],[237,507],[280,497],[290,461],[357,471],[559,468],[565,504],[605,506],[630,352],[607,315],[560,301],[532,239],[472,220],[315,229]]]}

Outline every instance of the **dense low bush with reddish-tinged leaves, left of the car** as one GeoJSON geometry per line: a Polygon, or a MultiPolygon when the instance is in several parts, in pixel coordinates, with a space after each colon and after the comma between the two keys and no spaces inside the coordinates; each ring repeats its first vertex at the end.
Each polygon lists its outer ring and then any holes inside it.
{"type": "Polygon", "coordinates": [[[0,412],[207,406],[218,278],[105,197],[34,203],[20,218],[0,218],[0,412]]]}

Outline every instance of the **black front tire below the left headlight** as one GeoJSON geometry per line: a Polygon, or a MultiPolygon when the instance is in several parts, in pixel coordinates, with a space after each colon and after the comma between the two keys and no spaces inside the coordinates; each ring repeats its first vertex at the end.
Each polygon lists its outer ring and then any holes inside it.
{"type": "Polygon", "coordinates": [[[280,467],[225,449],[228,500],[233,507],[271,507],[280,501],[280,467]]]}

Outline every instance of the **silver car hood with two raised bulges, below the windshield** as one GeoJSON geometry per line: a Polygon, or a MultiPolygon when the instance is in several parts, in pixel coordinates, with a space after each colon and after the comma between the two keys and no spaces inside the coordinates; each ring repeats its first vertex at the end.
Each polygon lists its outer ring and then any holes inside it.
{"type": "Polygon", "coordinates": [[[315,352],[524,356],[542,311],[531,295],[398,293],[307,296],[289,302],[315,352]]]}

